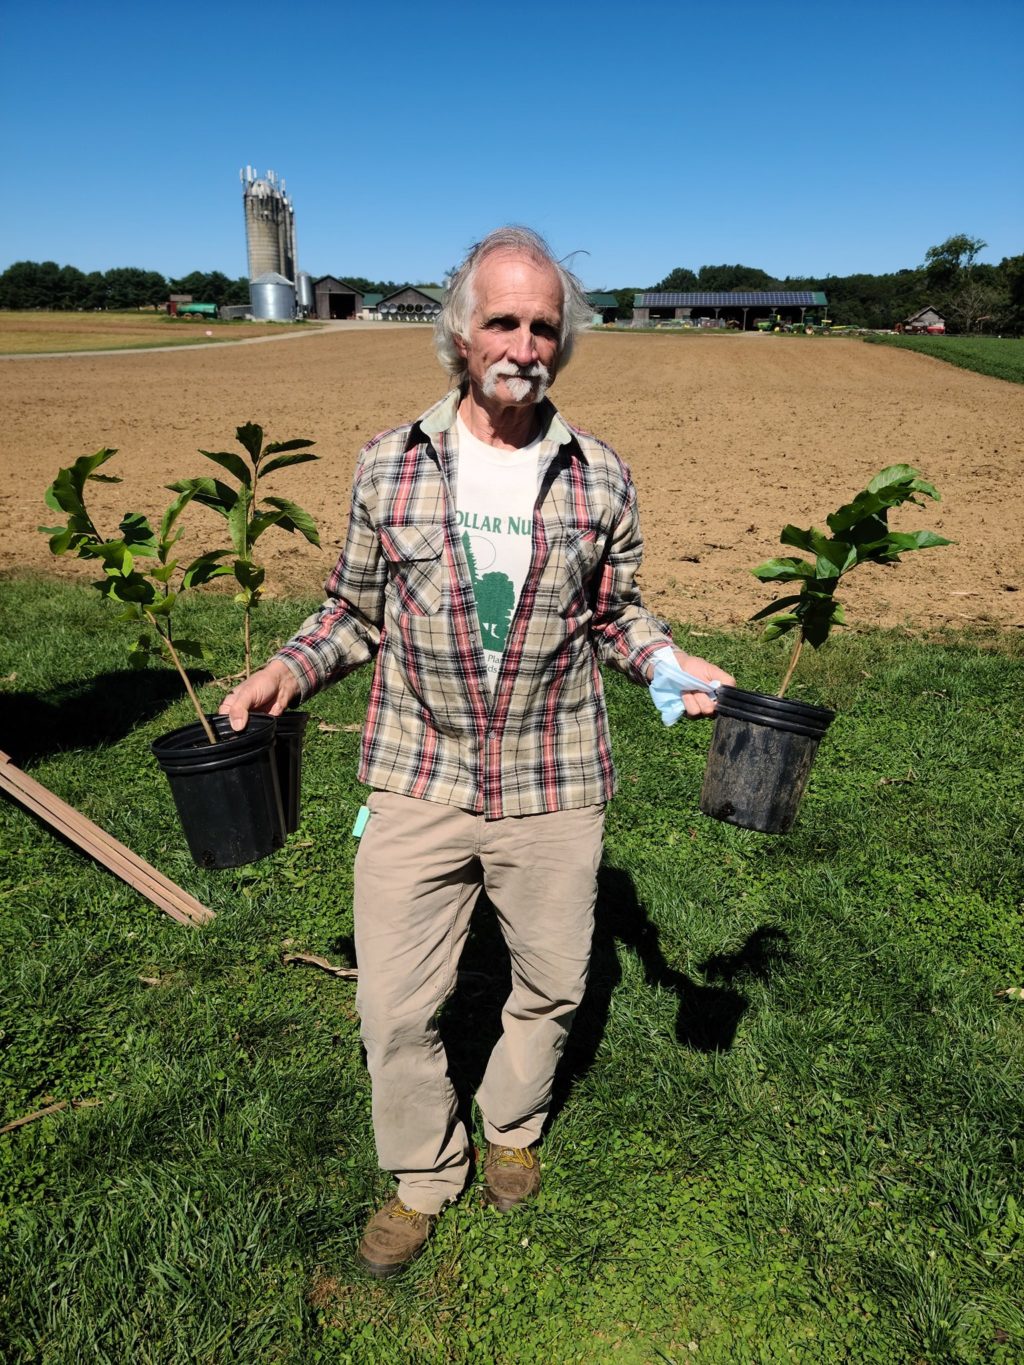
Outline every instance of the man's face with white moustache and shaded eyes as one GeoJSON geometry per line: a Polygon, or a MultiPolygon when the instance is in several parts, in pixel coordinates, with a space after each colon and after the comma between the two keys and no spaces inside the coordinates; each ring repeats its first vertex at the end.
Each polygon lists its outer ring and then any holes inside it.
{"type": "Polygon", "coordinates": [[[561,283],[528,255],[493,251],[474,281],[468,337],[456,337],[470,384],[500,407],[539,403],[554,379],[561,283]]]}

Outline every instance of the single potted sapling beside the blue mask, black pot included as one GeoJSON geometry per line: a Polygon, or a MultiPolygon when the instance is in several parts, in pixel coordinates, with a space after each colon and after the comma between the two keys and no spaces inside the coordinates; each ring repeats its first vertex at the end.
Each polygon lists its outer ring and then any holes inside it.
{"type": "Polygon", "coordinates": [[[763,639],[792,633],[782,685],[776,696],[718,689],[715,726],[700,790],[700,809],[718,820],[765,834],[792,829],[811,763],[836,713],[786,698],[806,644],[821,648],[831,628],[845,625],[836,590],[860,564],[893,565],[909,550],[949,545],[934,531],[890,531],[889,511],[904,502],[924,506],[920,497],[939,501],[935,489],[908,464],[892,464],[827,517],[831,535],[814,527],[786,526],[780,536],[812,556],[785,556],[752,569],[765,583],[786,583],[799,591],[777,598],[752,620],[773,620],[763,639]]]}

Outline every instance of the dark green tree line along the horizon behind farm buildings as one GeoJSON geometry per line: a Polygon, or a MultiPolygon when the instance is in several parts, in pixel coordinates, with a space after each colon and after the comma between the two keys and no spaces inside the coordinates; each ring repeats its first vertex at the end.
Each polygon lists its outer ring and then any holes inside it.
{"type": "MultiPolygon", "coordinates": [[[[821,289],[836,322],[856,328],[892,328],[931,304],[950,332],[1024,333],[1024,255],[1004,257],[998,265],[978,261],[986,247],[965,233],[930,247],[924,262],[892,274],[786,276],[784,280],[745,265],[676,266],[657,284],[606,292],[618,299],[618,311],[632,317],[634,295],[649,289],[821,289]]],[[[360,293],[393,293],[393,280],[339,276],[360,293]]],[[[202,303],[248,303],[248,280],[228,278],[220,270],[193,270],[167,278],[157,270],[120,266],[86,274],[55,261],[16,261],[0,274],[0,308],[147,308],[167,303],[172,293],[191,293],[202,303]]]]}

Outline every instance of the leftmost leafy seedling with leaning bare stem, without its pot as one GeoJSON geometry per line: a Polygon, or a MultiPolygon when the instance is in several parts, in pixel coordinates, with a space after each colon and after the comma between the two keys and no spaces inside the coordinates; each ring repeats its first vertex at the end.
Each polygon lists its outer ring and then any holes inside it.
{"type": "Polygon", "coordinates": [[[199,699],[186,673],[184,658],[202,659],[205,650],[198,640],[176,640],[172,632],[172,612],[182,592],[199,587],[221,573],[229,573],[220,560],[227,550],[210,550],[194,558],[186,568],[171,558],[180,538],[177,519],[193,500],[193,490],[183,490],[164,512],[160,531],[138,512],[127,512],[117,527],[117,536],[102,536],[85,505],[85,486],[93,483],[120,483],[109,474],[97,474],[117,452],[109,446],[96,455],[83,455],[72,465],[61,470],[46,489],[46,506],[63,512],[64,526],[41,526],[51,538],[53,554],[75,554],[79,560],[98,560],[104,576],[93,583],[109,602],[122,607],[119,621],[139,622],[138,637],[128,654],[132,667],[145,667],[150,658],[172,663],[184,682],[188,699],[206,732],[210,744],[217,743],[199,699]],[[177,587],[172,586],[179,575],[177,587]]]}

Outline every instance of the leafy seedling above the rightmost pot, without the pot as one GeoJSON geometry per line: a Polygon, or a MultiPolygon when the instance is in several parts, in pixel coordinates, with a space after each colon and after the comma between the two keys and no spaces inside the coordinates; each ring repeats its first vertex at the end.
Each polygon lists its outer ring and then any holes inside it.
{"type": "Polygon", "coordinates": [[[834,625],[847,624],[842,606],[836,601],[836,588],[844,573],[859,564],[898,564],[900,556],[908,550],[953,543],[934,531],[889,530],[890,508],[904,502],[924,506],[915,494],[941,501],[937,490],[920,478],[918,470],[912,470],[909,464],[890,464],[852,502],[826,519],[833,532],[830,536],[814,527],[808,531],[797,526],[782,528],[781,543],[807,550],[814,554],[814,562],[785,556],[751,569],[765,583],[800,584],[799,594],[778,598],[751,617],[752,621],[774,617],[765,629],[766,640],[776,640],[788,631],[797,632],[778,696],[784,696],[789,687],[804,642],[815,650],[821,648],[834,625]]]}

